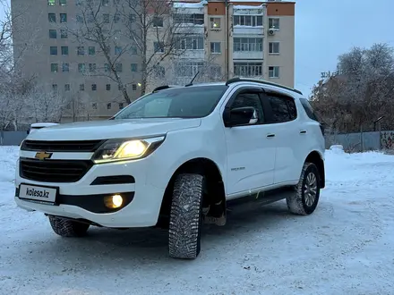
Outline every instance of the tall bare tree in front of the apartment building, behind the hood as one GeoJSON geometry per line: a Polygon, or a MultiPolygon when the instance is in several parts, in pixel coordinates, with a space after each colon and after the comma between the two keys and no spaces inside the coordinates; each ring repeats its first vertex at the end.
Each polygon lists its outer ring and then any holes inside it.
{"type": "Polygon", "coordinates": [[[176,21],[171,2],[116,0],[111,9],[108,6],[109,0],[80,4],[76,25],[69,26],[69,30],[81,45],[97,46],[96,54],[106,61],[104,67],[91,69],[94,71],[86,75],[114,80],[124,101],[130,103],[128,85],[138,84],[141,94],[145,94],[150,81],[165,80],[168,70],[174,70],[171,63],[187,49],[196,47],[197,41],[187,38],[195,34],[182,21],[176,21]],[[131,69],[131,80],[125,80],[123,75],[124,55],[132,56],[133,64],[138,64],[138,69],[131,69]]]}

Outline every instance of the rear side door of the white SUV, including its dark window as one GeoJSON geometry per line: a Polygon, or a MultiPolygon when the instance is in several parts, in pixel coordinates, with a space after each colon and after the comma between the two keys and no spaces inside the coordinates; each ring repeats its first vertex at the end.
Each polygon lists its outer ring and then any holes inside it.
{"type": "MultiPolygon", "coordinates": [[[[275,126],[275,143],[277,147],[275,159],[274,183],[295,182],[299,179],[300,161],[304,162],[305,138],[299,130],[293,97],[266,92],[270,114],[268,122],[275,126]]],[[[302,164],[301,164],[302,165],[302,164]]]]}

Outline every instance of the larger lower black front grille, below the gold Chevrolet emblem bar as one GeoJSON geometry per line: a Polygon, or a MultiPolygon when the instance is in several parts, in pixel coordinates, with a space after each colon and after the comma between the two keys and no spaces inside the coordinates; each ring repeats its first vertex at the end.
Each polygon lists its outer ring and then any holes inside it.
{"type": "Polygon", "coordinates": [[[20,161],[21,178],[44,182],[75,182],[85,175],[93,163],[89,160],[35,160],[20,161]]]}

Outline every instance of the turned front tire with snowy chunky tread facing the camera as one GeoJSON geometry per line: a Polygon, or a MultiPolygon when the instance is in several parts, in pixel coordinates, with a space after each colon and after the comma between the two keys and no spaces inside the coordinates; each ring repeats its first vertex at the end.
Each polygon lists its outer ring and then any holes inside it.
{"type": "Polygon", "coordinates": [[[194,259],[200,253],[204,182],[200,174],[176,177],[168,230],[170,257],[194,259]]]}

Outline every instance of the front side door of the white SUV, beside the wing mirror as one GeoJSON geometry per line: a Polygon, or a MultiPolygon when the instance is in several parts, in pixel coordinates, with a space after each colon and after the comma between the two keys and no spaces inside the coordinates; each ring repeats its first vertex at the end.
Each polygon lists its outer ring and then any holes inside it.
{"type": "Polygon", "coordinates": [[[266,124],[261,104],[262,89],[242,88],[229,99],[227,110],[253,106],[258,121],[252,124],[225,127],[227,144],[227,196],[269,186],[274,181],[275,138],[266,124]]]}

